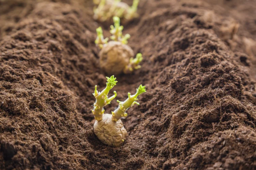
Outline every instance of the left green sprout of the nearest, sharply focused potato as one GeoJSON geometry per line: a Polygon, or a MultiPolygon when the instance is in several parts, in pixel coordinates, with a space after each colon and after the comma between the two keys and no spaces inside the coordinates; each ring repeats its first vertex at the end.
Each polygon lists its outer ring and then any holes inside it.
{"type": "Polygon", "coordinates": [[[92,110],[92,113],[95,119],[98,121],[102,120],[102,115],[105,111],[103,107],[110,104],[111,100],[115,99],[115,97],[117,96],[117,92],[114,91],[115,95],[111,96],[110,98],[107,97],[110,89],[112,89],[116,85],[117,81],[115,81],[116,78],[114,77],[114,75],[106,78],[107,78],[106,88],[101,92],[98,92],[97,85],[96,85],[95,92],[93,93],[93,96],[96,98],[96,102],[94,103],[94,109],[92,110]]]}

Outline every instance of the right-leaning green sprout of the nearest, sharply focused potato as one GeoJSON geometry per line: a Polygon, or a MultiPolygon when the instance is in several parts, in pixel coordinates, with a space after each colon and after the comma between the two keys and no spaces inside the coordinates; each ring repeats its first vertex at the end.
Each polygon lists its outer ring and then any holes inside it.
{"type": "Polygon", "coordinates": [[[121,117],[125,117],[127,116],[127,113],[126,110],[133,106],[134,104],[137,104],[139,105],[138,102],[136,102],[137,97],[142,94],[142,93],[145,93],[146,92],[146,89],[145,89],[146,86],[142,86],[140,85],[139,88],[137,89],[137,92],[131,96],[130,93],[128,93],[128,98],[124,101],[124,102],[120,102],[120,101],[117,101],[119,103],[119,106],[118,108],[112,112],[112,121],[116,122],[118,121],[121,117]]]}

